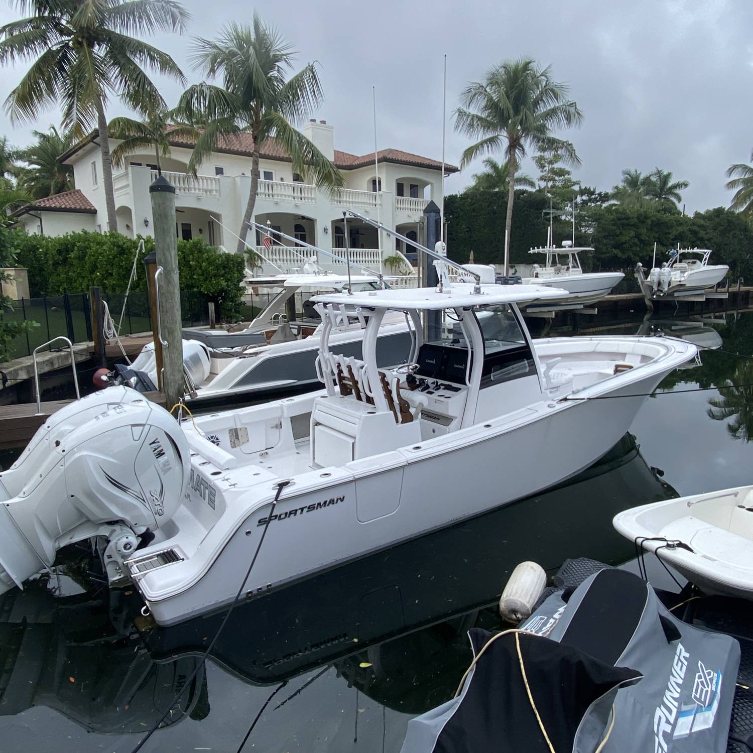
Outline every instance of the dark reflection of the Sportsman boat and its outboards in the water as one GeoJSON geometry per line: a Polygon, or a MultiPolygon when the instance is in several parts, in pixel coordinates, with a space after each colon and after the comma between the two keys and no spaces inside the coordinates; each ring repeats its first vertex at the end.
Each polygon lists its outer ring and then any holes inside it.
{"type": "MultiPolygon", "coordinates": [[[[496,624],[498,592],[520,559],[538,559],[553,571],[572,552],[577,537],[585,556],[622,561],[632,547],[611,528],[614,514],[636,499],[674,496],[660,472],[642,459],[635,437],[626,434],[587,471],[524,504],[466,520],[239,606],[212,658],[252,684],[334,663],[338,675],[374,700],[419,713],[456,684],[458,668],[467,663],[465,630],[496,624]],[[532,530],[532,520],[546,520],[546,527],[532,530]],[[427,672],[432,662],[436,669],[427,672]]],[[[136,608],[134,601],[128,617],[138,614],[136,608]]],[[[9,675],[0,675],[0,715],[44,703],[101,732],[143,731],[157,721],[196,666],[224,612],[173,628],[142,626],[142,642],[135,643],[109,624],[109,615],[117,611],[117,605],[108,607],[97,599],[80,596],[71,602],[41,589],[0,597],[0,638],[5,639],[0,663],[8,660],[5,666],[11,667],[9,675]],[[26,639],[26,650],[8,653],[8,636],[22,632],[21,618],[32,614],[45,617],[31,618],[31,627],[36,630],[40,623],[40,634],[56,638],[26,639]],[[76,625],[87,626],[86,636],[76,632],[76,625]],[[100,638],[95,639],[98,630],[100,638]],[[29,685],[26,693],[8,705],[8,688],[22,681],[29,685]],[[86,697],[72,687],[81,683],[91,691],[86,697]]],[[[121,617],[121,622],[127,620],[121,617]]],[[[33,632],[27,627],[25,634],[33,632]]],[[[200,673],[181,701],[180,713],[170,719],[202,718],[208,709],[200,673]]]]}

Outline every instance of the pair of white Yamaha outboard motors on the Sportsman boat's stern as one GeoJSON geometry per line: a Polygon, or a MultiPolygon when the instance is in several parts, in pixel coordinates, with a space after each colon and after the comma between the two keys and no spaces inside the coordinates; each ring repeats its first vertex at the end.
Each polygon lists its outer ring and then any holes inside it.
{"type": "Polygon", "coordinates": [[[111,584],[175,514],[191,464],[178,422],[128,387],[54,413],[0,473],[0,593],[92,539],[111,584]]]}

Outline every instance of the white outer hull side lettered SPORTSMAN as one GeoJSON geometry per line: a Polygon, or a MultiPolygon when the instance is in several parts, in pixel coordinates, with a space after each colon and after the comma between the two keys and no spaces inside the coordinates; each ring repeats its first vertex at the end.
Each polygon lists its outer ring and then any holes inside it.
{"type": "MultiPolygon", "coordinates": [[[[578,338],[567,340],[572,343],[578,338]]],[[[644,395],[695,352],[693,346],[676,348],[663,367],[652,368],[642,377],[636,373],[623,378],[617,389],[596,386],[583,391],[596,394],[592,392],[596,389],[599,394],[623,396],[620,399],[543,401],[342,467],[314,470],[304,466],[307,472],[294,475],[294,483],[282,491],[245,583],[245,596],[267,593],[482,514],[584,470],[630,428],[644,395]],[[537,457],[546,457],[547,462],[535,462],[537,457]]],[[[201,425],[201,419],[197,420],[201,425]]],[[[201,462],[200,456],[192,459],[197,476],[201,462]]],[[[276,491],[270,482],[287,477],[272,453],[261,453],[257,474],[258,480],[247,478],[250,488],[236,498],[239,512],[230,525],[229,538],[203,541],[203,546],[216,547],[218,554],[206,571],[197,570],[189,587],[185,581],[179,588],[177,581],[171,584],[169,568],[136,579],[157,623],[178,623],[222,608],[233,599],[270,514],[276,491]]],[[[218,477],[217,485],[223,486],[222,481],[218,477]]],[[[192,488],[188,496],[192,504],[206,505],[192,488]]],[[[166,543],[154,544],[145,552],[166,543]]]]}

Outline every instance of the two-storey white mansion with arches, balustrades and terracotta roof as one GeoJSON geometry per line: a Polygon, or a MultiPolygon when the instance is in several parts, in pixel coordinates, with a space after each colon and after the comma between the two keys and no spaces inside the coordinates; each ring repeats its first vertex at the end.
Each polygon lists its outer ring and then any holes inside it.
{"type": "MultiPolygon", "coordinates": [[[[373,153],[358,157],[336,150],[334,127],[324,120],[310,120],[303,133],[343,172],[345,187],[333,193],[307,184],[292,172],[285,152],[274,142],[267,142],[261,149],[256,222],[269,221],[283,233],[331,250],[346,245],[343,209],[350,208],[374,219],[379,215],[387,227],[416,239],[418,222],[428,201],[438,204],[443,198],[441,163],[397,149],[384,149],[377,154],[378,175],[375,175],[373,153]]],[[[112,139],[111,144],[114,147],[117,141],[112,139]]],[[[171,156],[161,160],[163,175],[176,190],[176,233],[184,239],[201,236],[211,245],[234,250],[233,233],[240,232],[251,190],[250,138],[240,133],[225,139],[195,177],[186,172],[192,148],[191,143],[176,140],[171,142],[171,156]]],[[[26,232],[44,235],[106,230],[102,159],[96,130],[64,154],[62,161],[73,166],[75,190],[17,210],[14,212],[17,221],[26,232]]],[[[457,168],[446,165],[445,170],[456,172],[457,168]]],[[[154,154],[149,151],[131,155],[120,172],[115,169],[113,182],[120,233],[132,237],[151,235],[154,224],[148,189],[156,177],[154,154]]],[[[352,261],[373,269],[380,269],[383,258],[410,250],[386,236],[380,248],[380,233],[352,218],[347,230],[352,261]]],[[[252,232],[245,241],[257,246],[285,271],[302,266],[300,256],[279,242],[271,249],[264,248],[261,239],[252,232]]],[[[276,270],[265,264],[263,271],[276,270]]]]}

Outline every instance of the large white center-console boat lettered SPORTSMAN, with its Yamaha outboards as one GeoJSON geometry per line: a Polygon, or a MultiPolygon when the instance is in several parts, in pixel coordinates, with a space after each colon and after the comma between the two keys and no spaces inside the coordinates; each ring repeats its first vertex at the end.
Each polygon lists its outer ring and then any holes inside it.
{"type": "Polygon", "coordinates": [[[318,392],[178,424],[120,386],[53,414],[0,474],[0,593],[93,539],[157,623],[225,608],[241,587],[250,599],[572,477],[696,353],[663,337],[533,342],[518,303],[563,291],[451,284],[447,261],[437,288],[312,299],[318,392]],[[384,367],[389,312],[412,322],[411,346],[384,367]],[[361,358],[333,340],[345,320],[364,328],[361,358]],[[521,472],[532,447],[547,463],[521,472]]]}

